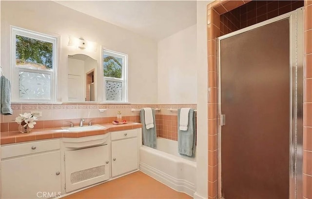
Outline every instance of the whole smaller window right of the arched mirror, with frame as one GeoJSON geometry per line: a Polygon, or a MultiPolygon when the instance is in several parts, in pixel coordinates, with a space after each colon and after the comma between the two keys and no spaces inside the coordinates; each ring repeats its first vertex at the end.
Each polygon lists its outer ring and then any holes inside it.
{"type": "Polygon", "coordinates": [[[127,102],[128,56],[110,50],[102,51],[106,101],[127,102]]]}

